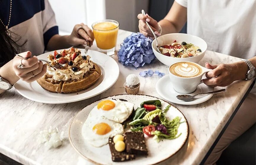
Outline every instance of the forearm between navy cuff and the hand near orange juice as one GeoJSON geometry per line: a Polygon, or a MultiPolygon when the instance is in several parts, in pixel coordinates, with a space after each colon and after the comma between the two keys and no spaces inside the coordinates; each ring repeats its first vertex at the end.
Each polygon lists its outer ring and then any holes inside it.
{"type": "Polygon", "coordinates": [[[49,40],[46,50],[53,51],[63,48],[68,48],[71,45],[69,44],[69,35],[54,35],[49,40]]]}

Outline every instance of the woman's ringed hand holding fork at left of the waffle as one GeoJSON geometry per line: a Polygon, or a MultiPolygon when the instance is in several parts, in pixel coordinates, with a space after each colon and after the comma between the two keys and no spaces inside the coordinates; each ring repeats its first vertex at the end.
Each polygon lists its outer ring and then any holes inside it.
{"type": "Polygon", "coordinates": [[[30,83],[39,79],[45,74],[47,65],[43,65],[41,61],[38,61],[36,56],[31,57],[30,51],[20,53],[19,55],[25,58],[29,58],[26,60],[15,56],[12,61],[12,69],[14,70],[17,77],[19,77],[21,80],[30,83]],[[23,69],[17,68],[21,62],[24,65],[23,69]]]}

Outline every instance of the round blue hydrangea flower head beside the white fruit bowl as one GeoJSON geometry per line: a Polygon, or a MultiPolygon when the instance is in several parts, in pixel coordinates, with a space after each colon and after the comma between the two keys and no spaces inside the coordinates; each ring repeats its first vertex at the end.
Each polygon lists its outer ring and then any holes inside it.
{"type": "Polygon", "coordinates": [[[117,53],[118,61],[124,66],[135,68],[150,64],[155,59],[151,43],[151,38],[147,38],[141,33],[132,33],[123,40],[117,53]]]}

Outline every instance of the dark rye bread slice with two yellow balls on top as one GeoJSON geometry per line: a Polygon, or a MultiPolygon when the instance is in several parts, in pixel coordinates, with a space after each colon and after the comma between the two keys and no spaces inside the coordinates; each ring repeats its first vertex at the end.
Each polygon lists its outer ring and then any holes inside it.
{"type": "Polygon", "coordinates": [[[128,160],[135,159],[134,154],[129,154],[125,151],[123,151],[123,152],[116,151],[113,137],[109,138],[108,144],[109,144],[109,148],[110,148],[110,152],[111,152],[111,156],[112,156],[112,161],[128,161],[128,160]]]}

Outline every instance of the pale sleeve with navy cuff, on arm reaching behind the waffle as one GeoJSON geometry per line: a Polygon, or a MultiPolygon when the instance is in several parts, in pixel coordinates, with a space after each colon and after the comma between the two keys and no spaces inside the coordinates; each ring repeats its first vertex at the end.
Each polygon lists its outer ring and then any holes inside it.
{"type": "Polygon", "coordinates": [[[55,20],[54,12],[48,0],[44,0],[45,8],[42,11],[43,33],[44,33],[44,46],[47,44],[52,36],[59,34],[59,29],[55,20]]]}

